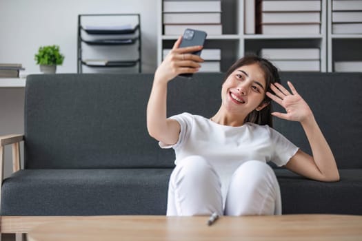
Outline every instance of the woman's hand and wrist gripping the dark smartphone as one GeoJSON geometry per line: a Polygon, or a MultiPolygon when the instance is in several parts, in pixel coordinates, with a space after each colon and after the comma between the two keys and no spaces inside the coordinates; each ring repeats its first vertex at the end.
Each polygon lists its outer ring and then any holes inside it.
{"type": "Polygon", "coordinates": [[[155,81],[168,82],[179,74],[193,74],[201,67],[203,62],[200,56],[191,54],[199,51],[203,46],[179,48],[182,36],[174,43],[172,50],[165,57],[154,74],[155,81]]]}

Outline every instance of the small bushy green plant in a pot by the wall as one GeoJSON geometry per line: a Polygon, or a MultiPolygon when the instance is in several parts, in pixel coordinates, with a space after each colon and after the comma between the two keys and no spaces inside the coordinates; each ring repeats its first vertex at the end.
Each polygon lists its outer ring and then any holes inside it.
{"type": "Polygon", "coordinates": [[[60,53],[58,45],[41,46],[35,54],[35,61],[40,65],[44,74],[55,74],[57,65],[62,65],[64,56],[60,53]]]}

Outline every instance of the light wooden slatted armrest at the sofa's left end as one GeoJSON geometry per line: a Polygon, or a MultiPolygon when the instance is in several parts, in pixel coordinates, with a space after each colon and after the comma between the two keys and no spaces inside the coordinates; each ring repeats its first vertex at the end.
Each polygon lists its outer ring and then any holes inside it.
{"type": "Polygon", "coordinates": [[[4,147],[12,145],[12,171],[20,169],[20,142],[24,139],[21,134],[0,136],[0,180],[3,180],[4,147]]]}

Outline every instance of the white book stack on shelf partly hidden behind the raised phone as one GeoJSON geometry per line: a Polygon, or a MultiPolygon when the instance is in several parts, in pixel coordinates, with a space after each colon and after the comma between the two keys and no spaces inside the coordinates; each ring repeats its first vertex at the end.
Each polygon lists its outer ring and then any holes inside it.
{"type": "MultiPolygon", "coordinates": [[[[164,49],[162,52],[163,59],[170,52],[170,49],[164,49]]],[[[221,72],[221,50],[205,48],[201,51],[201,58],[204,60],[200,63],[199,72],[221,72]]]]}

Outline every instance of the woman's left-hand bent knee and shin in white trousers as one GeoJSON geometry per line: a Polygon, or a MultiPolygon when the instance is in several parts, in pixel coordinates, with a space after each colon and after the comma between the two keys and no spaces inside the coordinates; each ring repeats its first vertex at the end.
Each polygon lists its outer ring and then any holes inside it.
{"type": "Polygon", "coordinates": [[[178,216],[222,214],[219,178],[205,158],[190,156],[178,160],[172,172],[169,189],[168,214],[178,216]]]}

